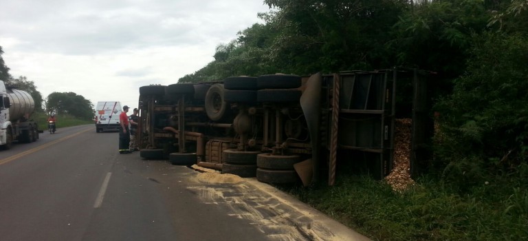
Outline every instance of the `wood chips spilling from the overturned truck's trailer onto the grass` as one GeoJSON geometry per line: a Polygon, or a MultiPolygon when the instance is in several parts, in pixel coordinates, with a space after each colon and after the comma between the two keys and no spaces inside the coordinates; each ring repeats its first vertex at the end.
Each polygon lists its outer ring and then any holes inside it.
{"type": "Polygon", "coordinates": [[[396,119],[394,132],[394,167],[385,180],[395,191],[415,183],[410,178],[410,131],[412,119],[396,119]]]}

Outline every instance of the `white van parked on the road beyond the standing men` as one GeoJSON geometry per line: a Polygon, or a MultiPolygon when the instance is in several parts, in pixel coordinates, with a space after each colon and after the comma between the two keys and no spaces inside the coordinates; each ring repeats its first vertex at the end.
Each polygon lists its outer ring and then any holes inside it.
{"type": "Polygon", "coordinates": [[[119,131],[121,112],[119,101],[99,101],[96,106],[96,132],[119,131]]]}

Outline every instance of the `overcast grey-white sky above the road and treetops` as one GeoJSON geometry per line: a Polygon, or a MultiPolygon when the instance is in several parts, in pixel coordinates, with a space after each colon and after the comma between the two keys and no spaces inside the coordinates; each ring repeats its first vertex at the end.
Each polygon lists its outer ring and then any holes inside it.
{"type": "Polygon", "coordinates": [[[141,86],[201,69],[270,10],[259,0],[0,0],[0,9],[12,76],[34,81],[43,98],[75,92],[130,107],[141,86]]]}

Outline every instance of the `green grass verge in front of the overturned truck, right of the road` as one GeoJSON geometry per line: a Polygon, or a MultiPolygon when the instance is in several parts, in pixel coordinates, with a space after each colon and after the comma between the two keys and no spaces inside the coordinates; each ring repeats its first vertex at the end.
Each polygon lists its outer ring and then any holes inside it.
{"type": "Polygon", "coordinates": [[[431,177],[399,193],[343,174],[333,187],[278,188],[373,240],[528,240],[526,176],[494,180],[467,193],[431,177]]]}

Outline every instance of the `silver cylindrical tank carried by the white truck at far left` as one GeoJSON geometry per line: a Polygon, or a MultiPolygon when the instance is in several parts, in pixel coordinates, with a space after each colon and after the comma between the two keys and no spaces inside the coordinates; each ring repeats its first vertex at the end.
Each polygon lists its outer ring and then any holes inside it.
{"type": "Polygon", "coordinates": [[[9,107],[9,121],[14,122],[27,114],[27,117],[35,110],[35,101],[30,93],[23,90],[8,90],[11,106],[9,107]]]}

